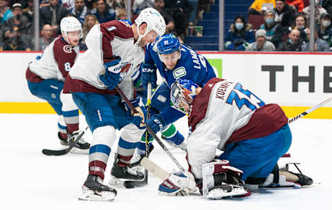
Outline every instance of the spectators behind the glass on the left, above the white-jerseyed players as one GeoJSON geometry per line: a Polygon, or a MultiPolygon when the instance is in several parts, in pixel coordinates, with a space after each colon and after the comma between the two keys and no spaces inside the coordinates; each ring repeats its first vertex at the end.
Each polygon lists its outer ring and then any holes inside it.
{"type": "MultiPolygon", "coordinates": [[[[183,43],[187,27],[193,26],[200,11],[214,0],[133,0],[131,22],[141,10],[152,7],[163,15],[167,32],[183,43]]],[[[84,39],[98,23],[127,19],[127,0],[39,0],[39,39],[34,40],[34,1],[0,0],[0,50],[33,50],[35,41],[44,50],[61,34],[62,18],[76,17],[83,28],[80,50],[86,50],[84,39]]]]}

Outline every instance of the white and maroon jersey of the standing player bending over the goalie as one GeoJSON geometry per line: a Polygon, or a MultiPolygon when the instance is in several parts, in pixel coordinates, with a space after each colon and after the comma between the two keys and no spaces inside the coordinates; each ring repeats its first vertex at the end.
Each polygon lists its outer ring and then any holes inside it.
{"type": "Polygon", "coordinates": [[[71,68],[64,85],[64,93],[94,92],[116,94],[109,90],[99,76],[105,73],[103,64],[112,61],[115,56],[121,58],[121,74],[124,79],[119,84],[129,99],[133,98],[133,82],[131,75],[138,70],[144,60],[144,48],[134,43],[133,32],[128,23],[109,21],[93,26],[86,37],[88,50],[77,59],[71,68]]]}

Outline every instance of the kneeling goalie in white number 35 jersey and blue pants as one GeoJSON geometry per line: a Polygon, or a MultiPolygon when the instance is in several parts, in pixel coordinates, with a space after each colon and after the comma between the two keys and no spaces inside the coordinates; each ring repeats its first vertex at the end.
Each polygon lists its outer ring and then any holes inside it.
{"type": "MultiPolygon", "coordinates": [[[[288,118],[277,104],[265,104],[239,82],[218,78],[203,88],[178,79],[172,85],[171,99],[188,114],[187,161],[203,195],[212,199],[250,195],[244,182],[262,187],[312,184],[302,173],[270,174],[292,142],[288,118]],[[216,149],[223,151],[218,158],[216,149]],[[297,184],[288,182],[293,177],[297,184]]],[[[171,175],[159,191],[176,195],[192,190],[172,184],[181,179],[183,175],[171,175]]]]}

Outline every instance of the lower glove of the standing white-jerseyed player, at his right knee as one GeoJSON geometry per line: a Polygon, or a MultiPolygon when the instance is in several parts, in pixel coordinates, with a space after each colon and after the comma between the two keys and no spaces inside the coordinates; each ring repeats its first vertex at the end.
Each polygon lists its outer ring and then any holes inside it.
{"type": "Polygon", "coordinates": [[[131,104],[133,104],[133,107],[136,109],[137,113],[133,113],[131,111],[130,107],[123,102],[124,108],[127,111],[127,115],[132,116],[131,122],[135,124],[140,129],[145,129],[145,119],[147,119],[147,111],[145,110],[144,106],[142,106],[142,103],[140,103],[140,99],[132,99],[130,100],[131,104]]]}

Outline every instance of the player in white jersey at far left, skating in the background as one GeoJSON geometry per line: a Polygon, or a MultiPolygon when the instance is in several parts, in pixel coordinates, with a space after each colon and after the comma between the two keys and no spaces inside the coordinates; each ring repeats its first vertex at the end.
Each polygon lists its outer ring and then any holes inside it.
{"type": "MultiPolygon", "coordinates": [[[[30,92],[45,99],[59,115],[58,137],[61,144],[68,145],[68,139],[78,134],[79,117],[72,95],[64,94],[62,90],[66,76],[79,53],[82,26],[75,17],[65,17],[60,28],[62,36],[47,46],[42,56],[30,62],[26,79],[30,92]]],[[[89,143],[81,139],[71,152],[88,153],[89,146],[89,143]]]]}

